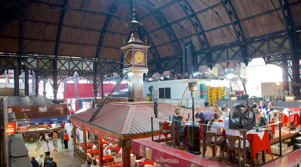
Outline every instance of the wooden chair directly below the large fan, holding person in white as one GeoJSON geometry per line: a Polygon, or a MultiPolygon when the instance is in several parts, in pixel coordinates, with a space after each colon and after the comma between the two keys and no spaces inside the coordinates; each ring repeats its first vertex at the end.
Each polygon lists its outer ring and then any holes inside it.
{"type": "MultiPolygon", "coordinates": [[[[240,166],[241,165],[240,157],[241,157],[241,155],[243,154],[243,151],[244,151],[243,148],[240,148],[240,143],[243,142],[243,138],[241,138],[239,136],[226,135],[226,141],[227,141],[227,139],[228,139],[229,143],[226,143],[226,145],[227,145],[227,154],[226,154],[225,163],[227,162],[228,155],[230,154],[230,151],[234,151],[237,154],[237,156],[239,157],[239,166],[240,166]],[[236,140],[238,140],[238,148],[235,148],[236,140]]],[[[249,147],[246,147],[246,151],[248,151],[248,150],[249,150],[249,147]]]]}

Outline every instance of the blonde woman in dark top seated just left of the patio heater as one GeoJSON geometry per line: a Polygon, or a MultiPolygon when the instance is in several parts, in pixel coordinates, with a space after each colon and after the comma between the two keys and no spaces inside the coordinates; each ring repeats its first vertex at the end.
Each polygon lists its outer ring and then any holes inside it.
{"type": "MultiPolygon", "coordinates": [[[[182,113],[181,108],[175,109],[175,116],[172,117],[172,125],[178,125],[181,126],[181,124],[186,124],[186,118],[184,113],[182,113]]],[[[185,129],[183,127],[178,129],[178,133],[185,133],[185,129]]],[[[180,142],[182,143],[183,146],[185,146],[185,136],[180,136],[180,142]]]]}

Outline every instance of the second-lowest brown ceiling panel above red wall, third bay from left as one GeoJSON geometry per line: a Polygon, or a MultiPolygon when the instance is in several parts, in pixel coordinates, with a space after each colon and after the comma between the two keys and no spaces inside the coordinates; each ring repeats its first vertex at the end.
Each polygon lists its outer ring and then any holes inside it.
{"type": "Polygon", "coordinates": [[[100,33],[100,31],[86,31],[84,29],[62,27],[61,42],[83,45],[97,45],[100,33]]]}

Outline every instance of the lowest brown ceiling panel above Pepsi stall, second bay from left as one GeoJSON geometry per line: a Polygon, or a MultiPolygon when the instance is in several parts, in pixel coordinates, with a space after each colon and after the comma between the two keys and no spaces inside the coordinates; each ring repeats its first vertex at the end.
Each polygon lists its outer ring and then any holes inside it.
{"type": "Polygon", "coordinates": [[[54,55],[55,42],[22,40],[22,52],[26,54],[54,55]],[[47,48],[47,49],[45,49],[47,48]]]}

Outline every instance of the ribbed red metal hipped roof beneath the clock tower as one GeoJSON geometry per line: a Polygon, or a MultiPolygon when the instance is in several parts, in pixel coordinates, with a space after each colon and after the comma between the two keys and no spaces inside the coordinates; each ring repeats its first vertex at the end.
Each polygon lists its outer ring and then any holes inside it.
{"type": "MultiPolygon", "coordinates": [[[[178,106],[159,103],[159,117],[154,118],[154,131],[159,130],[159,122],[169,119],[169,114],[174,115],[178,106]]],[[[88,123],[93,113],[98,109],[90,109],[71,116],[88,123]]],[[[182,113],[188,116],[191,110],[182,108],[182,113]]],[[[90,123],[104,130],[119,135],[130,135],[151,132],[151,117],[154,117],[153,102],[112,102],[104,105],[95,119],[90,123]]]]}

